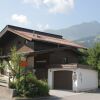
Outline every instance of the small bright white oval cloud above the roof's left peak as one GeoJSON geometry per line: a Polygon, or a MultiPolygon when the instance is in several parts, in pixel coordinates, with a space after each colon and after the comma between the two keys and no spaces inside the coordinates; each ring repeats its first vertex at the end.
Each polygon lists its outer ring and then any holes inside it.
{"type": "Polygon", "coordinates": [[[11,16],[11,19],[13,21],[16,21],[16,22],[20,23],[20,24],[27,24],[28,23],[28,19],[25,15],[13,14],[11,16]]]}

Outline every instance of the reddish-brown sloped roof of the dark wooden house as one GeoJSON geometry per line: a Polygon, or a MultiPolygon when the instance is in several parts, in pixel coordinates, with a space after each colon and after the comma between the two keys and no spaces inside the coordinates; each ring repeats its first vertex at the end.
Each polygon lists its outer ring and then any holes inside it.
{"type": "MultiPolygon", "coordinates": [[[[58,45],[65,45],[65,46],[72,46],[72,47],[75,47],[75,48],[84,48],[86,49],[85,47],[81,46],[81,45],[78,45],[76,43],[73,43],[69,40],[66,40],[66,39],[63,39],[63,38],[56,38],[56,37],[51,37],[51,36],[46,36],[46,35],[42,35],[42,34],[36,34],[34,33],[33,31],[33,34],[31,32],[28,32],[28,31],[23,31],[23,30],[16,30],[16,29],[12,29],[12,28],[6,28],[6,31],[10,31],[16,35],[19,35],[29,41],[32,41],[32,40],[36,40],[36,41],[44,41],[44,42],[49,42],[49,43],[55,43],[55,44],[58,44],[58,45]]],[[[3,36],[3,34],[5,34],[5,32],[3,30],[3,33],[0,34],[0,37],[3,36]]]]}

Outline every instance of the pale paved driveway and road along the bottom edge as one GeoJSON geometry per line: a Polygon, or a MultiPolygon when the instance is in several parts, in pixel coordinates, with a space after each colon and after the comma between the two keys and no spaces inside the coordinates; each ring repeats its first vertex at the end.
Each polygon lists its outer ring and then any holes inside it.
{"type": "MultiPolygon", "coordinates": [[[[41,97],[34,99],[12,99],[12,100],[100,100],[100,90],[74,93],[65,90],[50,90],[49,97],[41,97]]],[[[0,97],[0,100],[11,100],[9,98],[0,97]]]]}

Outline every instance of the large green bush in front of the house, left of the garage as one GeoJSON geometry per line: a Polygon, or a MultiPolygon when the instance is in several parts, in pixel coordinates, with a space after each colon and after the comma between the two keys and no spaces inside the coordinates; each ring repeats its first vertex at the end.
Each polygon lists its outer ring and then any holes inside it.
{"type": "Polygon", "coordinates": [[[47,96],[49,94],[47,83],[42,80],[37,80],[32,73],[21,76],[20,79],[17,79],[17,81],[12,84],[12,87],[14,86],[19,96],[34,97],[47,96]]]}

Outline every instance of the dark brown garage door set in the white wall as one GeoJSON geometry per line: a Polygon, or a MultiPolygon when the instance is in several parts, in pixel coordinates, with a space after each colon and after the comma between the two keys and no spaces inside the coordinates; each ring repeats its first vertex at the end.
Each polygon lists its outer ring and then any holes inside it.
{"type": "Polygon", "coordinates": [[[72,90],[72,71],[54,71],[54,89],[72,90]]]}

